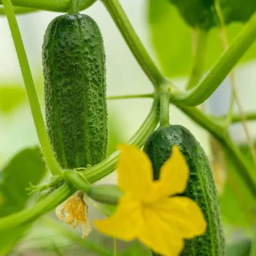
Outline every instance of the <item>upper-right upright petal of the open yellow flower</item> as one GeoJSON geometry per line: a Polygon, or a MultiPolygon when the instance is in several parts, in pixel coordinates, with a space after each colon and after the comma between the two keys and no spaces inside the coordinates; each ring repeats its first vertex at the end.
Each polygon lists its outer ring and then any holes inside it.
{"type": "Polygon", "coordinates": [[[177,146],[173,146],[171,157],[163,164],[160,179],[154,184],[155,196],[161,198],[182,193],[187,187],[188,177],[189,169],[185,157],[177,146]]]}

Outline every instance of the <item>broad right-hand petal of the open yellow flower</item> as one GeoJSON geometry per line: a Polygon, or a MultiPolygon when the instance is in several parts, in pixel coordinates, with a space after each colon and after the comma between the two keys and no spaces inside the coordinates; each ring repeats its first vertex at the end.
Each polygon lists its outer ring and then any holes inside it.
{"type": "Polygon", "coordinates": [[[151,211],[182,238],[202,235],[207,227],[201,208],[188,197],[169,197],[155,202],[151,211]]]}

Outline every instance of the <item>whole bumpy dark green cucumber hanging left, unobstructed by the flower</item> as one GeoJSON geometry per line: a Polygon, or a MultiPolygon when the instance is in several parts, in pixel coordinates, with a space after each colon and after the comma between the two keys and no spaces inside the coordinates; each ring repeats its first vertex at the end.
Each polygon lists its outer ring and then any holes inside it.
{"type": "Polygon", "coordinates": [[[96,165],[107,152],[105,53],[90,16],[65,14],[43,41],[46,125],[62,168],[96,165]]]}

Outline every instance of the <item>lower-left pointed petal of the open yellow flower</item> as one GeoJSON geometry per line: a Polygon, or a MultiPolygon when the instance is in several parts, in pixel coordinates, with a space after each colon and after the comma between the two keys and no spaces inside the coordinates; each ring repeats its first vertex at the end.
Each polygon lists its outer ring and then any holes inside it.
{"type": "Polygon", "coordinates": [[[129,196],[121,196],[116,212],[110,218],[94,221],[99,232],[125,241],[135,239],[141,225],[140,203],[129,196]]]}

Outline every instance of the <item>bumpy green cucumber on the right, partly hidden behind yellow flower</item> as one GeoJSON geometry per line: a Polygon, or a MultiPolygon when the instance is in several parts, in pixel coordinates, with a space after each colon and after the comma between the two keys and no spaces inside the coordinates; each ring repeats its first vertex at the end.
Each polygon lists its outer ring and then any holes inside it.
{"type": "Polygon", "coordinates": [[[152,161],[154,179],[159,179],[160,168],[171,155],[174,145],[179,146],[190,167],[190,179],[182,196],[193,199],[202,209],[207,221],[205,234],[186,240],[181,255],[224,256],[226,253],[225,238],[213,172],[204,150],[185,127],[174,125],[159,128],[149,136],[144,144],[144,151],[152,161]]]}

